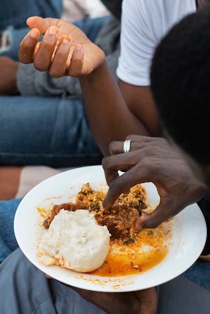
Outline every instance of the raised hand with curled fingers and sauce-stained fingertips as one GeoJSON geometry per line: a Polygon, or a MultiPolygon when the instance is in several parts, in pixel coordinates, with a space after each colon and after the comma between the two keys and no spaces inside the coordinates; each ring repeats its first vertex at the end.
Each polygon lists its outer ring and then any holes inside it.
{"type": "Polygon", "coordinates": [[[31,17],[31,31],[20,44],[19,60],[34,63],[39,71],[53,77],[79,77],[90,74],[104,61],[103,51],[76,26],[58,19],[31,17]],[[41,43],[39,36],[44,34],[41,43]]]}

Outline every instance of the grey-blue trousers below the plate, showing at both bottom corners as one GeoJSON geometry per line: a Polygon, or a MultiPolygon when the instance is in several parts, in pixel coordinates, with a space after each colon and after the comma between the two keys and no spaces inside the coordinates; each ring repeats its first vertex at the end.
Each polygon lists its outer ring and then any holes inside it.
{"type": "MultiPolygon", "coordinates": [[[[47,279],[20,249],[0,265],[0,282],[4,314],[104,313],[70,287],[47,279]]],[[[157,293],[157,314],[209,314],[210,292],[188,279],[179,276],[158,286],[157,293]]]]}

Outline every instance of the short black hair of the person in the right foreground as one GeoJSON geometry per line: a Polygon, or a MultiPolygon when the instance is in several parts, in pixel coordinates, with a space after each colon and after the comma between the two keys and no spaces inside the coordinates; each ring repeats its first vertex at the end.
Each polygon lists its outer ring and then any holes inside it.
{"type": "Polygon", "coordinates": [[[184,17],[158,44],[151,91],[163,127],[200,165],[210,163],[210,6],[184,17]]]}

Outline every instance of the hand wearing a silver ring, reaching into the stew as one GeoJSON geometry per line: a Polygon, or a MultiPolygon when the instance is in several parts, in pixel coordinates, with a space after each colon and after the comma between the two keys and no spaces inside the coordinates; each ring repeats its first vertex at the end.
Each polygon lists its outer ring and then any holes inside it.
{"type": "Polygon", "coordinates": [[[130,152],[123,152],[123,143],[110,144],[112,156],[102,160],[109,191],[102,207],[111,207],[121,193],[138,183],[153,182],[160,196],[158,207],[138,218],[135,229],[156,228],[178,214],[187,205],[200,200],[208,191],[191,175],[188,166],[164,138],[129,135],[130,152]],[[118,171],[125,172],[118,176],[118,171]]]}

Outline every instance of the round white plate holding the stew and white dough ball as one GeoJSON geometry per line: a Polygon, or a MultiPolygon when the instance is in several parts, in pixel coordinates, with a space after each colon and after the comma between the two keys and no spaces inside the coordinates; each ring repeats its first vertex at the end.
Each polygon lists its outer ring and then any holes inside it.
{"type": "MultiPolygon", "coordinates": [[[[162,284],[188,269],[200,255],[206,239],[206,225],[196,204],[186,207],[173,218],[172,241],[166,258],[144,273],[121,277],[100,277],[76,273],[61,266],[44,266],[37,259],[38,245],[44,234],[43,217],[37,208],[52,208],[69,201],[83,183],[99,186],[106,182],[101,166],[77,168],[55,175],[34,187],[21,201],[14,221],[18,244],[26,257],[51,277],[83,289],[103,292],[134,291],[162,284]],[[72,188],[74,187],[74,188],[72,188]]],[[[155,207],[159,203],[157,190],[146,183],[147,199],[155,207]]]]}

